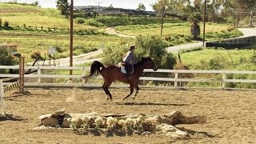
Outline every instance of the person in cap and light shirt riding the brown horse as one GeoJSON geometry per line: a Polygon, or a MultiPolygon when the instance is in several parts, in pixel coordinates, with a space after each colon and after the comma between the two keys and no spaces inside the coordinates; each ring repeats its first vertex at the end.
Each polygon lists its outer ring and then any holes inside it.
{"type": "Polygon", "coordinates": [[[130,79],[129,75],[130,75],[130,73],[131,73],[131,71],[133,69],[133,65],[138,62],[137,59],[134,56],[135,48],[136,47],[133,46],[133,45],[130,46],[129,51],[122,56],[122,62],[125,63],[126,77],[127,77],[128,81],[130,79]]]}

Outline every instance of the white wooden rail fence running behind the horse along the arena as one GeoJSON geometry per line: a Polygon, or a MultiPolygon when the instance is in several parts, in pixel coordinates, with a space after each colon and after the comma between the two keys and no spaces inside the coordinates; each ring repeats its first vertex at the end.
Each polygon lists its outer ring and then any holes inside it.
{"type": "MultiPolygon", "coordinates": [[[[0,66],[0,69],[18,69],[18,66],[0,66]]],[[[37,82],[26,82],[25,86],[88,86],[88,84],[85,84],[85,80],[82,79],[82,76],[86,75],[86,70],[90,70],[89,67],[79,67],[79,66],[25,66],[25,70],[38,70],[38,72],[34,74],[25,74],[25,78],[37,78],[37,82]],[[67,74],[43,74],[42,70],[81,70],[81,74],[76,75],[67,75],[67,74]],[[79,82],[76,82],[75,84],[66,84],[66,82],[59,82],[59,83],[42,83],[42,78],[76,78],[78,80],[81,80],[79,82]]],[[[256,85],[255,79],[228,79],[226,78],[226,74],[255,74],[256,71],[243,71],[243,70],[166,70],[166,69],[159,69],[157,71],[154,70],[144,70],[146,73],[166,73],[166,74],[174,74],[174,78],[171,78],[170,76],[167,76],[165,78],[160,77],[146,77],[142,76],[140,78],[141,81],[153,81],[153,82],[173,82],[174,88],[184,88],[183,86],[178,85],[178,83],[181,82],[219,82],[220,86],[218,86],[219,89],[225,89],[226,84],[229,82],[239,82],[239,83],[251,83],[256,85]],[[182,74],[220,74],[219,78],[179,78],[179,75],[182,74]]],[[[18,78],[18,74],[0,74],[0,78],[18,78]]],[[[101,76],[98,76],[98,78],[102,78],[101,76]]],[[[96,83],[90,83],[89,85],[94,85],[96,83]]],[[[4,85],[7,85],[7,83],[4,82],[4,85]]],[[[170,86],[169,86],[170,87],[170,86]]],[[[188,87],[186,87],[188,88],[188,87]]],[[[203,87],[202,87],[203,88],[203,87]]]]}

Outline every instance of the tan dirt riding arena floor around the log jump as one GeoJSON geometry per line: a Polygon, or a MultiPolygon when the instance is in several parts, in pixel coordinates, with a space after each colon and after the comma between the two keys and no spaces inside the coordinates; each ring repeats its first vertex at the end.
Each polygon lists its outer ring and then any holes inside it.
{"type": "Polygon", "coordinates": [[[150,90],[142,89],[135,100],[121,101],[128,89],[103,90],[28,89],[30,95],[6,93],[7,111],[14,119],[0,121],[0,143],[254,143],[256,142],[255,90],[150,90]],[[178,125],[190,138],[164,134],[113,136],[78,135],[72,130],[32,130],[38,116],[56,110],[67,113],[114,113],[163,115],[180,110],[186,116],[206,115],[205,124],[178,125]]]}

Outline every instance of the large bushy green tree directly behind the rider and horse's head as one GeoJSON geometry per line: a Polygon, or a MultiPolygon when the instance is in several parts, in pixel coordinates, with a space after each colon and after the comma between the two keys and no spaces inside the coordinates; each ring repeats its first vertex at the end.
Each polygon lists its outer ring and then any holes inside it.
{"type": "MultiPolygon", "coordinates": [[[[122,62],[122,55],[128,50],[127,43],[117,46],[106,47],[103,49],[103,63],[118,63],[122,62]]],[[[135,56],[140,60],[142,57],[154,58],[155,64],[159,68],[173,69],[176,63],[174,54],[167,53],[166,47],[168,44],[158,36],[139,36],[136,38],[135,56]]]]}

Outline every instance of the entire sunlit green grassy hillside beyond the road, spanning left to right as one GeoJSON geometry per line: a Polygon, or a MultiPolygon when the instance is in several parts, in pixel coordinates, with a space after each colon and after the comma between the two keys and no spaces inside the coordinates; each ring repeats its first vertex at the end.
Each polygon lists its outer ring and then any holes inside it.
{"type": "MultiPolygon", "coordinates": [[[[0,30],[0,43],[18,44],[18,52],[30,59],[30,53],[38,50],[48,56],[50,47],[58,49],[55,58],[69,56],[70,22],[60,15],[56,9],[43,9],[37,6],[22,6],[0,3],[0,18],[8,21],[9,27],[0,30]]],[[[159,35],[161,25],[159,18],[105,16],[84,19],[85,23],[78,24],[74,20],[74,55],[84,54],[103,47],[116,48],[121,44],[130,45],[134,38],[120,38],[117,35],[106,34],[108,26],[121,34],[130,36],[159,35]]],[[[200,24],[202,25],[202,24],[200,24]]],[[[202,26],[201,26],[202,27],[202,26]]],[[[196,42],[190,39],[190,24],[176,18],[165,18],[163,38],[169,46],[182,43],[196,42]]],[[[207,23],[206,38],[232,38],[234,27],[228,25],[207,23]]],[[[202,33],[201,36],[202,38],[202,33]]]]}

